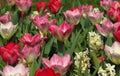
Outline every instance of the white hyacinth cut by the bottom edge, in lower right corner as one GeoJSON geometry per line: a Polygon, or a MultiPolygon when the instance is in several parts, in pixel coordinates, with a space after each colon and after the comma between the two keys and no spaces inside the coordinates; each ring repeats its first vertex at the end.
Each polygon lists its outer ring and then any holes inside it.
{"type": "Polygon", "coordinates": [[[103,69],[102,67],[98,70],[98,76],[116,76],[115,72],[115,65],[106,64],[106,68],[103,69]]]}

